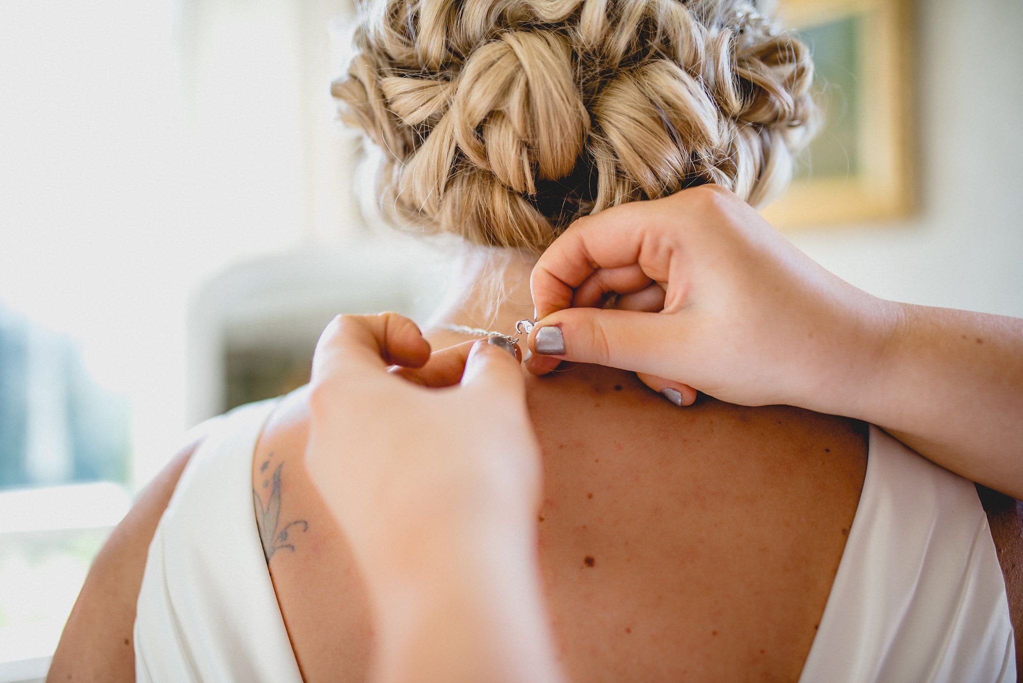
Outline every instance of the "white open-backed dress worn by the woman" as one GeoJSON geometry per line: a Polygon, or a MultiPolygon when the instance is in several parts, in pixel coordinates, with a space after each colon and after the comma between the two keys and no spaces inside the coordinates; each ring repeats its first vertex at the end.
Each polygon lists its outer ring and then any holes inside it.
{"type": "MultiPolygon", "coordinates": [[[[139,591],[139,681],[302,680],[253,509],[253,453],[274,404],[217,418],[181,475],[139,591]]],[[[800,681],[1015,680],[1005,583],[973,483],[871,426],[859,506],[800,681]]]]}

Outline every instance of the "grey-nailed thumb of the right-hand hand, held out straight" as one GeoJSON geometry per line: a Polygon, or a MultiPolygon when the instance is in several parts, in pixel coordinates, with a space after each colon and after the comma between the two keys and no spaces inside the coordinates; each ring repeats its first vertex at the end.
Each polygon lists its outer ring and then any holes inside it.
{"type": "Polygon", "coordinates": [[[573,360],[673,377],[678,374],[681,332],[675,315],[564,308],[530,331],[529,370],[542,374],[561,360],[573,360]]]}

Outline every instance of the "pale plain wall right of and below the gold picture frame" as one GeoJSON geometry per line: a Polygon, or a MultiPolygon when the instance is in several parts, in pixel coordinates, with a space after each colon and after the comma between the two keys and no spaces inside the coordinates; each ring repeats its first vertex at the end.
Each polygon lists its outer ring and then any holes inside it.
{"type": "Polygon", "coordinates": [[[872,294],[1023,317],[1023,3],[917,5],[919,212],[789,237],[872,294]]]}

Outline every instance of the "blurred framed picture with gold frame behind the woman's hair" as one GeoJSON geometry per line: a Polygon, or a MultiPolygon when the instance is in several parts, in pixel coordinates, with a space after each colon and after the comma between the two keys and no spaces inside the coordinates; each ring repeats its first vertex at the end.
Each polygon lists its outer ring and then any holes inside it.
{"type": "Polygon", "coordinates": [[[911,0],[783,0],[813,51],[826,122],[792,185],[766,207],[779,227],[896,218],[915,206],[911,0]]]}

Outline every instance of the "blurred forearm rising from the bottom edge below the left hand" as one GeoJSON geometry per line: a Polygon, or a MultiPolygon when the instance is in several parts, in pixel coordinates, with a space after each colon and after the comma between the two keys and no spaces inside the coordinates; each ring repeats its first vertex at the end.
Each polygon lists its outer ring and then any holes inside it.
{"type": "Polygon", "coordinates": [[[437,548],[375,592],[376,681],[563,680],[532,544],[437,548]]]}

